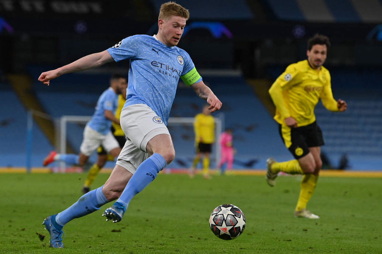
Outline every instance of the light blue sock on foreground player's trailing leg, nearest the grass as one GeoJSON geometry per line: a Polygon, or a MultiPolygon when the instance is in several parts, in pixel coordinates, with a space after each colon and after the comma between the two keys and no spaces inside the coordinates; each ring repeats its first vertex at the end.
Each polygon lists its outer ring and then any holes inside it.
{"type": "MultiPolygon", "coordinates": [[[[92,212],[99,210],[104,204],[108,203],[109,201],[107,201],[104,193],[102,193],[103,186],[104,185],[95,190],[89,191],[81,196],[76,203],[58,213],[55,220],[57,224],[62,228],[71,220],[91,214],[92,212]]],[[[60,230],[61,228],[57,229],[60,230]]]]}

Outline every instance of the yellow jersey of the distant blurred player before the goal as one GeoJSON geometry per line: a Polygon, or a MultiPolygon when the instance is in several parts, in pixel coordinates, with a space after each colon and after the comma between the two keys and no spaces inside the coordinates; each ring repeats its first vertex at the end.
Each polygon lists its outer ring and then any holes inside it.
{"type": "Polygon", "coordinates": [[[202,143],[212,144],[215,141],[215,121],[211,115],[197,114],[194,122],[195,141],[202,143]]]}

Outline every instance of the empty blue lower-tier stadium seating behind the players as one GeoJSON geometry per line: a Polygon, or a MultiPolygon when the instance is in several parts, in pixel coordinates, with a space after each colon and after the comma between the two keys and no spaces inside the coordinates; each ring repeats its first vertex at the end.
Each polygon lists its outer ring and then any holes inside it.
{"type": "MultiPolygon", "coordinates": [[[[268,68],[267,72],[275,79],[283,68],[285,67],[268,68]]],[[[374,169],[377,157],[382,152],[382,102],[376,93],[360,92],[365,89],[359,89],[359,85],[371,89],[376,80],[382,78],[381,74],[372,69],[329,70],[332,74],[333,94],[335,98],[341,95],[341,98],[348,101],[349,110],[336,114],[327,111],[321,103],[317,105],[317,121],[322,127],[326,143],[322,151],[333,167],[337,167],[337,162],[346,155],[349,159],[348,167],[374,169]]],[[[110,74],[68,74],[63,79],[55,80],[54,85],[49,88],[38,82],[33,84],[33,88],[46,113],[53,117],[90,116],[100,93],[107,87],[109,76],[110,74]],[[89,84],[92,84],[92,89],[89,89],[89,84]]],[[[223,102],[221,112],[215,114],[215,117],[223,115],[224,127],[234,129],[234,146],[237,150],[234,168],[264,168],[265,160],[269,156],[277,160],[290,159],[290,154],[283,147],[278,135],[277,124],[243,77],[205,74],[203,78],[223,102]],[[252,164],[249,163],[251,161],[252,164]]],[[[181,83],[170,116],[194,117],[203,104],[189,87],[181,83]]],[[[71,134],[68,142],[74,149],[78,150],[81,144],[83,128],[83,124],[68,124],[68,132],[71,134]]],[[[194,154],[193,127],[181,125],[179,128],[169,125],[169,130],[176,149],[176,159],[171,167],[189,167],[194,154]]],[[[40,156],[39,159],[34,159],[34,166],[39,166],[40,160],[51,149],[52,146],[48,144],[34,151],[34,158],[40,156]]],[[[212,167],[214,166],[213,163],[212,167]]]]}

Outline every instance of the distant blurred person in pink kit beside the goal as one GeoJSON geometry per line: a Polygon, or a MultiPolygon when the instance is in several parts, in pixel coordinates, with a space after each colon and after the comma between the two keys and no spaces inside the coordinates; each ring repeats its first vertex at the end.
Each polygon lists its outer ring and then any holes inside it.
{"type": "Polygon", "coordinates": [[[233,146],[232,146],[232,129],[226,129],[225,132],[220,134],[219,138],[220,144],[220,163],[219,168],[222,170],[222,175],[232,173],[232,164],[233,164],[233,146]],[[227,172],[223,164],[227,162],[227,172]]]}

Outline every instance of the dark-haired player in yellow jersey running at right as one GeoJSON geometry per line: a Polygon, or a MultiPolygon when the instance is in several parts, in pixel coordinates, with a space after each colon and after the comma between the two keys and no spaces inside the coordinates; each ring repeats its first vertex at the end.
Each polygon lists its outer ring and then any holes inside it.
{"type": "Polygon", "coordinates": [[[308,59],[288,66],[269,89],[276,106],[274,118],[279,124],[280,135],[295,159],[285,162],[267,159],[267,183],[274,186],[280,171],[304,175],[295,217],[319,219],[306,209],[316,188],[322,166],[320,146],[324,145],[314,108],[319,99],[330,111],[345,111],[347,108],[345,101],[334,100],[329,71],[322,66],[329,47],[328,37],[314,35],[308,40],[308,59]]]}

